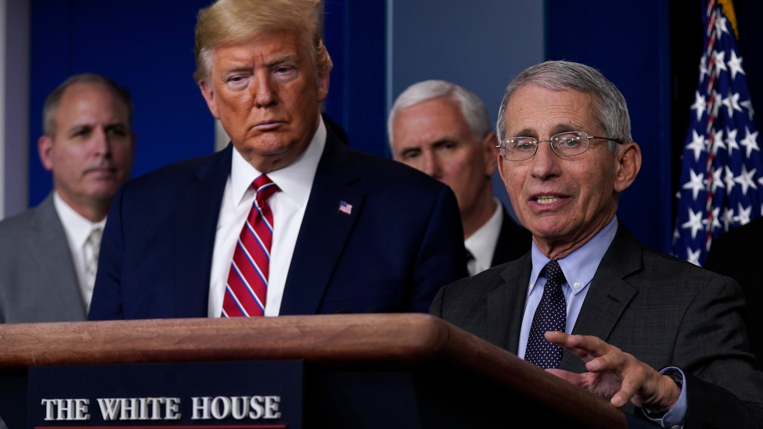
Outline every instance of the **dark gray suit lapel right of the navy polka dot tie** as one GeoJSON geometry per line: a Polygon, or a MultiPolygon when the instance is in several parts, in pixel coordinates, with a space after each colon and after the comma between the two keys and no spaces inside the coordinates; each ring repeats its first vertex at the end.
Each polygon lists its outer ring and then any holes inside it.
{"type": "MultiPolygon", "coordinates": [[[[607,340],[620,314],[638,292],[624,278],[641,269],[642,253],[642,245],[620,224],[591,280],[591,289],[585,296],[572,334],[593,335],[607,340]]],[[[559,368],[585,372],[584,363],[566,350],[559,368]]]]}

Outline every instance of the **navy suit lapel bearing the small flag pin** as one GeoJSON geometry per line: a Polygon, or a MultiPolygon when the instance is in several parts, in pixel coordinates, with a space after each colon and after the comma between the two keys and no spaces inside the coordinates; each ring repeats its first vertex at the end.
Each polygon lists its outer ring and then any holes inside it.
{"type": "Polygon", "coordinates": [[[320,156],[297,237],[280,314],[315,314],[360,211],[365,193],[349,187],[360,178],[350,150],[331,131],[320,156]],[[339,211],[340,203],[351,213],[339,211]]]}

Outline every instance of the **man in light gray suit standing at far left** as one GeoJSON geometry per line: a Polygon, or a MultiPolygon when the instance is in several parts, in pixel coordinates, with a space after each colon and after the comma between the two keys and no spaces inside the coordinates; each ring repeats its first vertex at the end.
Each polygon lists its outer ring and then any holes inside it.
{"type": "Polygon", "coordinates": [[[129,178],[130,94],[94,73],[72,76],[43,107],[40,160],[53,192],[0,222],[0,321],[84,321],[111,199],[129,178]]]}

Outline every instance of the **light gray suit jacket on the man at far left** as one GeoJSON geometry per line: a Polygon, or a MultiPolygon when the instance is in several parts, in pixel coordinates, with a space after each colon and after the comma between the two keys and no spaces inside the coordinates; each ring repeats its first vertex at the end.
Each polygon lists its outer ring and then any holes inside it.
{"type": "Polygon", "coordinates": [[[53,194],[0,222],[0,322],[84,321],[82,292],[53,194]]]}

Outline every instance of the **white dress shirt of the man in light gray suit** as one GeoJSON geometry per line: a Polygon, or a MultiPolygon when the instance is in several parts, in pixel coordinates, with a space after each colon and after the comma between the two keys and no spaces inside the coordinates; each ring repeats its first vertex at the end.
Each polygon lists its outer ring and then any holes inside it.
{"type": "Polygon", "coordinates": [[[90,233],[95,228],[103,228],[106,225],[106,219],[100,222],[91,222],[74,211],[66,202],[63,201],[58,192],[53,192],[53,207],[56,208],[58,218],[63,224],[63,231],[66,232],[66,240],[69,242],[69,251],[72,253],[72,262],[74,271],[79,280],[79,290],[82,292],[82,302],[85,308],[90,308],[90,300],[93,297],[93,288],[87,281],[85,275],[85,241],[88,240],[90,233]]]}

